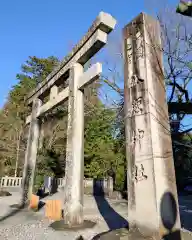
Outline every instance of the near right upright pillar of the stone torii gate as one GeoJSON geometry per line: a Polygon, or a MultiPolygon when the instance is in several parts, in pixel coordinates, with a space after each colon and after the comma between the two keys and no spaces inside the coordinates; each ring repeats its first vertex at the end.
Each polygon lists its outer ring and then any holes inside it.
{"type": "Polygon", "coordinates": [[[84,100],[78,89],[83,67],[76,63],[69,80],[69,107],[65,183],[65,221],[69,225],[83,223],[84,177],[84,100]]]}

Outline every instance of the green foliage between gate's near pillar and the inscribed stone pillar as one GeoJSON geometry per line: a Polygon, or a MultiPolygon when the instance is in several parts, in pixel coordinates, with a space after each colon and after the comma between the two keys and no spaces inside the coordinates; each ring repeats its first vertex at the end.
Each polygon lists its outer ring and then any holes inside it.
{"type": "Polygon", "coordinates": [[[125,178],[125,159],[117,151],[118,139],[115,137],[116,112],[97,106],[94,116],[85,127],[85,175],[103,178],[109,172],[115,173],[116,188],[122,189],[125,178]]]}

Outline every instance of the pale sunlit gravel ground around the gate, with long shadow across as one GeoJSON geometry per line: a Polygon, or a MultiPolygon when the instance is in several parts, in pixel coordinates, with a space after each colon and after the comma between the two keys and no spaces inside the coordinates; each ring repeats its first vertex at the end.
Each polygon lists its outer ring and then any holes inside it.
{"type": "MultiPolygon", "coordinates": [[[[61,193],[56,193],[46,199],[62,199],[61,193]]],[[[18,203],[20,194],[14,192],[10,197],[0,198],[0,239],[8,240],[74,240],[82,235],[84,239],[92,239],[99,233],[108,232],[109,229],[122,228],[127,224],[127,203],[126,201],[106,200],[103,198],[94,199],[91,196],[84,196],[84,215],[85,219],[95,221],[96,225],[92,229],[78,232],[59,232],[49,227],[50,221],[44,217],[44,208],[38,213],[27,210],[13,213],[9,206],[18,203]],[[8,218],[3,216],[11,214],[8,218]]],[[[192,229],[192,198],[182,197],[180,199],[180,213],[183,227],[192,229]]],[[[109,232],[109,235],[103,234],[99,239],[116,240],[127,239],[126,230],[109,232]]],[[[98,239],[98,238],[95,238],[98,239]]],[[[185,240],[192,239],[192,236],[186,234],[185,240]]]]}

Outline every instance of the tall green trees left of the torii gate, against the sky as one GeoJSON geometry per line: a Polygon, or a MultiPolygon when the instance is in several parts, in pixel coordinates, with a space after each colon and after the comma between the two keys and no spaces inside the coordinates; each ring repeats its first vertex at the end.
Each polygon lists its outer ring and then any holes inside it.
{"type": "Polygon", "coordinates": [[[30,109],[25,105],[25,97],[45,78],[58,60],[54,57],[39,59],[29,57],[22,65],[22,73],[17,74],[18,83],[12,87],[7,102],[0,112],[0,162],[2,174],[13,175],[16,161],[22,168],[26,148],[25,118],[30,109]],[[22,158],[22,159],[21,159],[22,158]]]}

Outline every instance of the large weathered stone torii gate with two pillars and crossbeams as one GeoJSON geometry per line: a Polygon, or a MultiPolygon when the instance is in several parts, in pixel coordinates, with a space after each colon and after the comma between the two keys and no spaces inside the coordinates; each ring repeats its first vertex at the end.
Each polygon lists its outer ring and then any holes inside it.
{"type": "Polygon", "coordinates": [[[116,20],[100,12],[87,34],[59,66],[40,83],[27,97],[32,113],[26,119],[30,124],[25,164],[23,170],[22,204],[30,198],[40,135],[40,118],[68,99],[67,155],[65,175],[65,222],[69,225],[83,222],[83,177],[84,177],[84,102],[83,89],[98,79],[102,72],[100,63],[86,72],[83,65],[107,42],[107,35],[114,29],[116,20]],[[69,79],[69,86],[58,92],[58,86],[69,79]],[[49,101],[43,99],[49,95],[49,101]]]}

